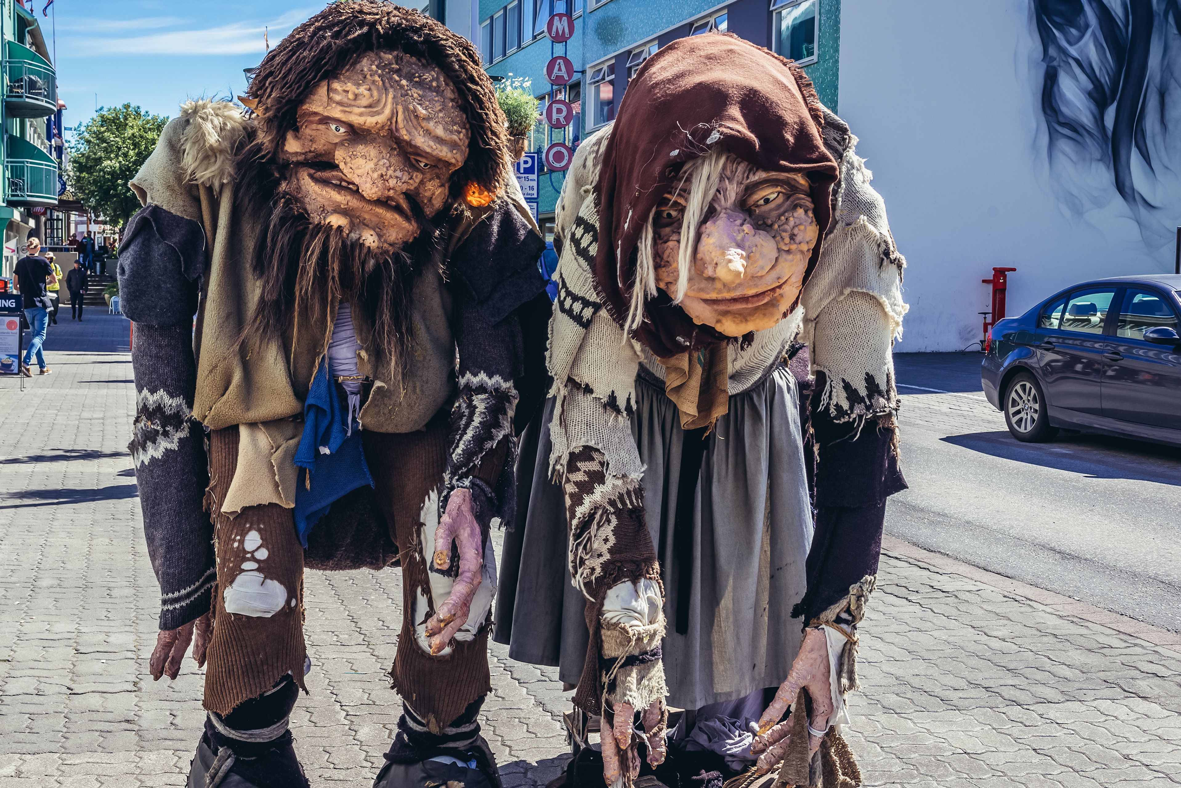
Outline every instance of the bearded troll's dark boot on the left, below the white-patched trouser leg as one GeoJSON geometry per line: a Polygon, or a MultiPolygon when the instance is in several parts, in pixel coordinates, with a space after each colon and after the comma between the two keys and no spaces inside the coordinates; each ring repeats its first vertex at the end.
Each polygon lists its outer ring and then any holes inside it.
{"type": "Polygon", "coordinates": [[[287,730],[298,696],[286,676],[226,717],[209,713],[188,788],[308,788],[287,730]]]}

